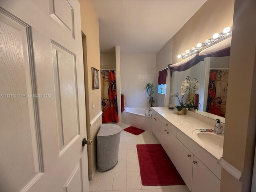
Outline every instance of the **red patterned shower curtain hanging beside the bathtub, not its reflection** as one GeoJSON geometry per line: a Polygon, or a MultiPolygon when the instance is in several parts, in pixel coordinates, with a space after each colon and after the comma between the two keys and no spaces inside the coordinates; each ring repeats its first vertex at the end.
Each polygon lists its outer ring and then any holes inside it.
{"type": "Polygon", "coordinates": [[[116,78],[114,70],[101,70],[102,123],[118,122],[116,78]]]}

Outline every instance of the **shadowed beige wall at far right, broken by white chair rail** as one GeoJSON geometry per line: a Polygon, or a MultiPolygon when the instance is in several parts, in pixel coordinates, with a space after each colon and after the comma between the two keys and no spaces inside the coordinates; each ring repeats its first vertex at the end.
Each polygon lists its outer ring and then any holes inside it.
{"type": "Polygon", "coordinates": [[[255,9],[255,0],[235,0],[223,158],[242,177],[238,181],[222,169],[221,192],[249,192],[251,188],[256,137],[255,9]]]}

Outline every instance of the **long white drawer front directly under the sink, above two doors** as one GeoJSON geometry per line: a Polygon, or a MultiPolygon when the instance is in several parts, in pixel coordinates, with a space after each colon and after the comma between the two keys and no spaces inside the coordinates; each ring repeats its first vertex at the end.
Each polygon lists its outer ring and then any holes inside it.
{"type": "Polygon", "coordinates": [[[209,152],[200,147],[196,142],[190,139],[186,134],[177,131],[177,138],[180,140],[200,161],[216,176],[221,178],[221,166],[217,164],[217,159],[214,158],[209,152]]]}

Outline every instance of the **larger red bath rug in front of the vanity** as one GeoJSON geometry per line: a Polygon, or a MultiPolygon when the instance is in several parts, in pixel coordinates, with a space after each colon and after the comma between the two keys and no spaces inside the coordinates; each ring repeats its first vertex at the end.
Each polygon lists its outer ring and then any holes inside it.
{"type": "Polygon", "coordinates": [[[160,144],[137,145],[142,185],[185,185],[160,144]]]}

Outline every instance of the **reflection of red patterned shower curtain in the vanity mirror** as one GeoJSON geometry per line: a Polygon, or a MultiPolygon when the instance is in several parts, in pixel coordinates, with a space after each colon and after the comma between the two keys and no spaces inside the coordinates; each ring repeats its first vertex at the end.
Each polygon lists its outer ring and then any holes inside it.
{"type": "Polygon", "coordinates": [[[227,91],[228,69],[210,70],[206,112],[225,117],[227,91]]]}

